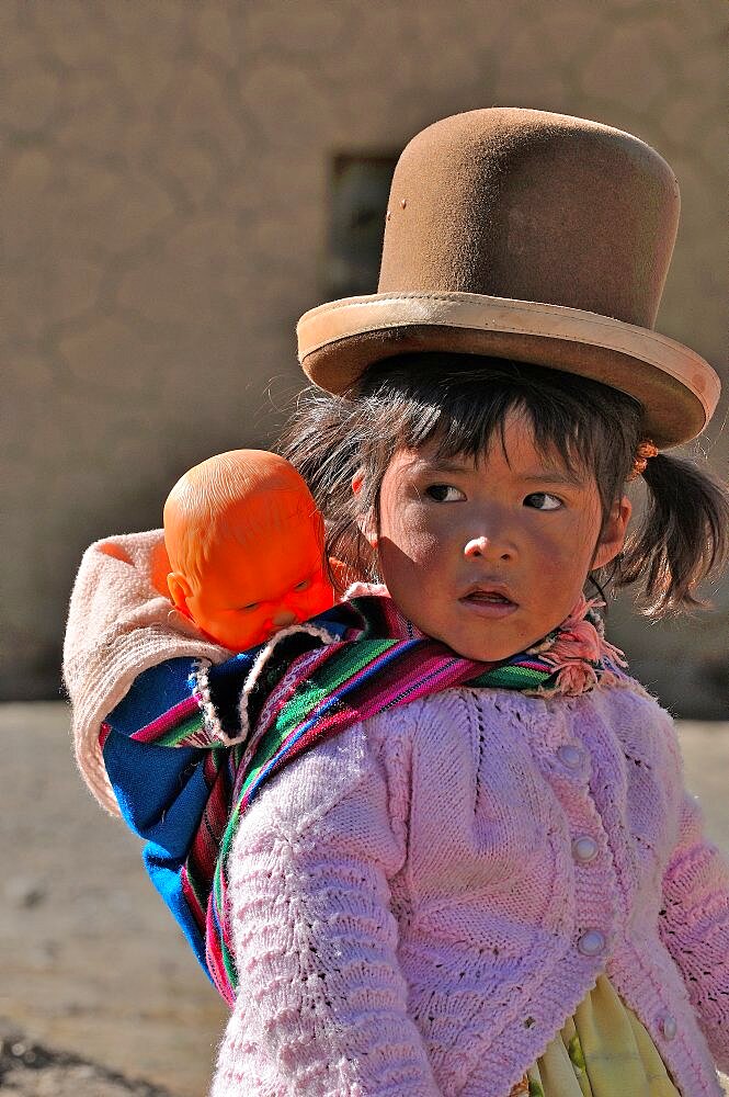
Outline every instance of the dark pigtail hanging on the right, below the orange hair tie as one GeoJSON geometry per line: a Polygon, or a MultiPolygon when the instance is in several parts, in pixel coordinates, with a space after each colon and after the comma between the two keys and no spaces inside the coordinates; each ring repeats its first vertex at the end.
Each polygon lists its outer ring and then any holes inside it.
{"type": "Polygon", "coordinates": [[[729,493],[693,462],[659,453],[642,477],[642,521],[616,562],[616,587],[639,583],[648,617],[706,608],[699,584],[729,556],[729,493]]]}

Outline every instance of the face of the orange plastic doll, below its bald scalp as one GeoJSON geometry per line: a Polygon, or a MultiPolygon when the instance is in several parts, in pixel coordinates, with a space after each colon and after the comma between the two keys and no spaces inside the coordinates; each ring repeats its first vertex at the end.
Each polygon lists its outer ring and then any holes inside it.
{"type": "Polygon", "coordinates": [[[187,610],[217,643],[243,652],[280,629],[306,621],[334,602],[324,570],[321,532],[308,514],[262,529],[259,536],[218,541],[187,610]]]}

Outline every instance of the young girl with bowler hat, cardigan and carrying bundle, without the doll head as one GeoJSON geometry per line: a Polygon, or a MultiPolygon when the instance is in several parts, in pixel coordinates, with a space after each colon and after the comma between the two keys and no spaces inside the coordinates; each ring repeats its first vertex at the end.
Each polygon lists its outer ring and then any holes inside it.
{"type": "Polygon", "coordinates": [[[214,1097],[720,1094],[729,871],[595,614],[608,579],[696,606],[727,554],[725,489],[662,452],[718,396],[652,331],[676,202],[657,154],[581,120],[479,111],[409,146],[380,293],[299,327],[328,395],[287,455],[371,580],[310,649],[196,648],[145,601],[151,535],[92,546],[79,761],[161,873],[192,841],[171,905],[232,1006],[214,1097]],[[135,794],[160,728],[182,749],[156,816],[135,794]],[[203,785],[185,845],[170,819],[203,785]]]}

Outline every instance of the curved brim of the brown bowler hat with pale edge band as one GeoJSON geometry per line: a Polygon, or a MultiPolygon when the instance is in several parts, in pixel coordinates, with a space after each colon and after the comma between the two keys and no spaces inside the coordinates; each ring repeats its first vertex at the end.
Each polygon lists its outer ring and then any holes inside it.
{"type": "Polygon", "coordinates": [[[702,432],[721,388],[708,362],[657,331],[474,293],[345,297],[305,313],[297,336],[304,372],[333,394],[351,389],[375,362],[417,351],[506,358],[590,377],[638,400],[645,434],[662,449],[702,432]]]}

